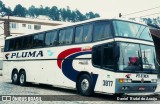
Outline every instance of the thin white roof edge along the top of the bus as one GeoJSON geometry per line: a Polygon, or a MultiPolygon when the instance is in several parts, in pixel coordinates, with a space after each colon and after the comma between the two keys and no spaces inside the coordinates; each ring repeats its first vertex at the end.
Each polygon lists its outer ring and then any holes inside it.
{"type": "Polygon", "coordinates": [[[46,31],[52,31],[53,29],[56,30],[56,29],[60,29],[60,28],[76,26],[76,25],[79,25],[79,24],[89,23],[89,22],[94,22],[94,21],[100,21],[100,20],[121,20],[121,21],[127,21],[127,22],[137,23],[137,24],[141,24],[141,25],[146,25],[145,23],[137,22],[137,21],[133,21],[133,20],[125,19],[125,18],[94,18],[94,19],[89,19],[89,20],[85,20],[85,21],[75,22],[75,23],[72,23],[72,24],[64,24],[64,25],[53,26],[52,29],[45,30],[45,31],[42,30],[42,31],[30,33],[30,34],[22,34],[22,35],[18,35],[18,36],[10,36],[10,37],[7,37],[6,39],[22,37],[22,36],[26,36],[26,35],[32,35],[32,34],[36,34],[36,33],[46,32],[46,31]]]}

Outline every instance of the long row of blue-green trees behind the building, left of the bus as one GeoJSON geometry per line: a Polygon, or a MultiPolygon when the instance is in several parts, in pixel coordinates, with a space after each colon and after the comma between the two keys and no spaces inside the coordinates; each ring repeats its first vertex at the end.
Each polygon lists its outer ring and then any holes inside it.
{"type": "Polygon", "coordinates": [[[39,15],[45,15],[51,18],[52,20],[69,21],[69,22],[77,22],[95,17],[100,17],[98,13],[89,12],[84,15],[79,10],[77,9],[71,10],[69,7],[59,9],[56,6],[52,6],[50,8],[48,6],[43,7],[42,5],[40,5],[39,8],[36,8],[35,6],[32,5],[28,9],[26,9],[21,4],[18,4],[12,11],[9,7],[6,8],[1,0],[0,0],[0,14],[1,16],[6,16],[6,15],[12,15],[18,17],[30,16],[33,18],[37,18],[39,15]]]}

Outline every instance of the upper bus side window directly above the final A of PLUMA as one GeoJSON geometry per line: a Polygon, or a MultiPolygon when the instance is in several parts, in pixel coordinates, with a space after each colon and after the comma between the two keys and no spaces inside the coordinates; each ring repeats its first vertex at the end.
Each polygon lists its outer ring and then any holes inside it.
{"type": "Polygon", "coordinates": [[[42,47],[43,45],[44,45],[44,33],[34,35],[33,47],[42,47]]]}

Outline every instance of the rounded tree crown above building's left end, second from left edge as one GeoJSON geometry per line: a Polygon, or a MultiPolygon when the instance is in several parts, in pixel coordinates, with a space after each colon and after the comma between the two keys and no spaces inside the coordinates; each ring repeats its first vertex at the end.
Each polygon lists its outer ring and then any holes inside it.
{"type": "Polygon", "coordinates": [[[14,8],[13,15],[18,17],[25,17],[26,16],[26,8],[22,7],[22,5],[18,4],[14,8]]]}

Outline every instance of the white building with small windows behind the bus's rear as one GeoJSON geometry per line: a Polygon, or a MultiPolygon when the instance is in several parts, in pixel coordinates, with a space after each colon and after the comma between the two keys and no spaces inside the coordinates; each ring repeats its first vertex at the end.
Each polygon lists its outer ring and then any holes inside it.
{"type": "Polygon", "coordinates": [[[0,69],[2,69],[4,42],[7,36],[16,36],[49,30],[52,29],[53,26],[62,24],[68,23],[46,20],[44,17],[43,19],[31,19],[12,16],[0,18],[0,69]]]}

